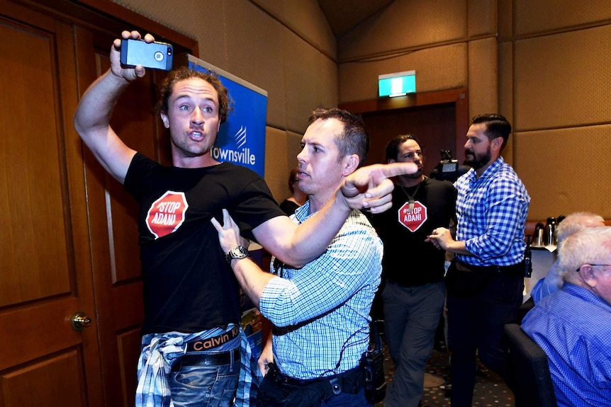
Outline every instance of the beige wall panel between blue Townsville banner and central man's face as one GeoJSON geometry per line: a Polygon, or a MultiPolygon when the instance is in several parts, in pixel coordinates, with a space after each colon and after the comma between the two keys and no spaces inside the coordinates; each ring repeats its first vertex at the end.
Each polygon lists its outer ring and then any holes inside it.
{"type": "Polygon", "coordinates": [[[290,165],[293,164],[289,164],[286,151],[286,131],[268,126],[265,129],[265,182],[278,202],[284,200],[288,194],[287,168],[291,168],[290,165]]]}

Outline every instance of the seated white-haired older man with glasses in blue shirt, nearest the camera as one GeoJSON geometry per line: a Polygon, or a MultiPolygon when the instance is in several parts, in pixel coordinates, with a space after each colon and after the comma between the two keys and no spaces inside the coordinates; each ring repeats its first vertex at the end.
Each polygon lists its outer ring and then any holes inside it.
{"type": "Polygon", "coordinates": [[[611,227],[566,237],[559,260],[564,285],[522,329],[549,359],[560,407],[611,406],[611,227]]]}

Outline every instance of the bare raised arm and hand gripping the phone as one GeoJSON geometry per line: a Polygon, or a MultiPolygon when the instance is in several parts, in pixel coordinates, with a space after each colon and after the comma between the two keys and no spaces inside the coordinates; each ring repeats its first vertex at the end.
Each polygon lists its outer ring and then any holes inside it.
{"type": "MultiPolygon", "coordinates": [[[[138,31],[123,31],[121,36],[140,39],[138,31]]],[[[145,35],[146,42],[154,40],[152,35],[145,35]]],[[[120,47],[121,40],[114,40],[110,54],[111,68],[96,79],[82,96],[74,113],[74,128],[106,171],[123,183],[135,151],[127,147],[111,128],[111,114],[120,94],[131,81],[144,76],[145,69],[140,66],[123,69],[120,47]]]]}

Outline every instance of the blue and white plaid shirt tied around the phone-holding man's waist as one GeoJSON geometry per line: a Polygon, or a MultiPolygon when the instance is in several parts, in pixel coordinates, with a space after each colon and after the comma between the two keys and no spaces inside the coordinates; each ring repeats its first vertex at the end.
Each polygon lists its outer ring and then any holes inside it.
{"type": "MultiPolygon", "coordinates": [[[[135,407],[174,407],[168,382],[172,366],[185,355],[187,343],[195,340],[206,340],[228,333],[234,328],[213,328],[199,333],[149,333],[142,337],[142,351],[138,360],[138,387],[136,389],[135,407]]],[[[250,358],[252,351],[245,334],[223,343],[212,352],[226,352],[235,348],[240,352],[240,382],[234,406],[250,405],[252,369],[250,358]]]]}

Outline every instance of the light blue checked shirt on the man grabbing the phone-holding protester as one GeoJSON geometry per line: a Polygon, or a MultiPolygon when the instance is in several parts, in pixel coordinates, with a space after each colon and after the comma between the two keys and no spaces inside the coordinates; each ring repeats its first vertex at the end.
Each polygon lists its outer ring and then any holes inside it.
{"type": "MultiPolygon", "coordinates": [[[[308,218],[309,202],[293,221],[308,218]]],[[[380,284],[382,243],[352,211],[327,251],[301,269],[279,265],[259,309],[274,323],[274,360],[296,379],[331,376],[359,366],[369,345],[369,311],[380,284]]],[[[272,273],[274,273],[272,261],[272,273]]]]}

